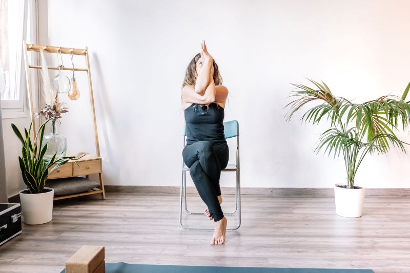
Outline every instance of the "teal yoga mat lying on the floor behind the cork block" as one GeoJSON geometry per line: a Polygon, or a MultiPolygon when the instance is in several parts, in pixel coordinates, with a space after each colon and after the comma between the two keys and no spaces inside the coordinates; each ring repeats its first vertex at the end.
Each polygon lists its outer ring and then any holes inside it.
{"type": "MultiPolygon", "coordinates": [[[[64,269],[61,273],[65,273],[64,269]]],[[[371,269],[225,267],[107,263],[106,273],[374,273],[371,269]]]]}

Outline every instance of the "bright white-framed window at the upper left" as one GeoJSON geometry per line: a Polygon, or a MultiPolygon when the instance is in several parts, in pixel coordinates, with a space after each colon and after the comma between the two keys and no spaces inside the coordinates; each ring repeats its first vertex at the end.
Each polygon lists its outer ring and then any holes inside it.
{"type": "MultiPolygon", "coordinates": [[[[23,40],[29,0],[0,0],[0,98],[2,108],[23,109],[26,95],[23,40]]],[[[28,35],[29,34],[29,35],[28,35]]]]}

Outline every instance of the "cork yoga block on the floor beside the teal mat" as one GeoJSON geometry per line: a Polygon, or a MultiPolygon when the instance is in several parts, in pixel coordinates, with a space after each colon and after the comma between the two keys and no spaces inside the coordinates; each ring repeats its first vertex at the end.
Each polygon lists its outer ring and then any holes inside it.
{"type": "Polygon", "coordinates": [[[66,262],[66,273],[104,273],[104,246],[83,245],[66,262]]]}

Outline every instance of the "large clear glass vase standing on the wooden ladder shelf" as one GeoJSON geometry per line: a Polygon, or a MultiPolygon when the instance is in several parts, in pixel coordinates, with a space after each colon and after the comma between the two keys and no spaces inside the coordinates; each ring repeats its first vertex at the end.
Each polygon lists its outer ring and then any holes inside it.
{"type": "Polygon", "coordinates": [[[56,154],[55,158],[60,158],[66,156],[67,152],[67,139],[63,135],[57,133],[57,126],[55,120],[51,121],[50,133],[44,134],[43,136],[43,146],[47,143],[47,151],[43,159],[50,161],[51,158],[56,154]]]}

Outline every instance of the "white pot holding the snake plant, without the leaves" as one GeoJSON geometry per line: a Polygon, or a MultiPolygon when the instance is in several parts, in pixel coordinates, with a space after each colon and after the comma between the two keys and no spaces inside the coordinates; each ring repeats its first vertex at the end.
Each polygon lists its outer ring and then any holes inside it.
{"type": "Polygon", "coordinates": [[[23,221],[29,225],[44,224],[51,221],[53,216],[54,190],[42,194],[26,194],[20,191],[23,221]]]}

